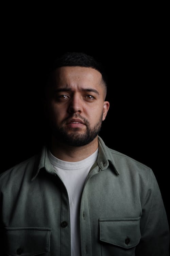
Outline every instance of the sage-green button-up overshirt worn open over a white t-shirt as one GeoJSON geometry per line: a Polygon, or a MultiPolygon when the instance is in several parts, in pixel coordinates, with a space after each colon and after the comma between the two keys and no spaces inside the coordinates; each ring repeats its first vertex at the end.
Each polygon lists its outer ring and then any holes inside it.
{"type": "MultiPolygon", "coordinates": [[[[68,194],[47,152],[44,147],[0,176],[4,254],[70,256],[68,194]]],[[[153,171],[100,137],[82,193],[80,236],[82,256],[169,255],[169,226],[153,171]]]]}

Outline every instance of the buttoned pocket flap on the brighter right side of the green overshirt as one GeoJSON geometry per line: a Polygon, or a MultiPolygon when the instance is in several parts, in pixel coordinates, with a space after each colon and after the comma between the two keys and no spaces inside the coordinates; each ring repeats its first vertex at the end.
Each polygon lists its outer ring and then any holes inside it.
{"type": "Polygon", "coordinates": [[[140,217],[131,219],[99,219],[100,241],[123,248],[131,248],[139,243],[140,217]]]}

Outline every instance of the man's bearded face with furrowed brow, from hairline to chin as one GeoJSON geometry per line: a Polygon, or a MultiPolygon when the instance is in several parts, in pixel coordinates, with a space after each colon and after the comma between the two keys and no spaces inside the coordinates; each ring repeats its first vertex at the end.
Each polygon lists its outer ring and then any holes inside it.
{"type": "Polygon", "coordinates": [[[53,136],[61,143],[83,146],[94,140],[109,103],[100,72],[86,67],[61,67],[49,88],[48,118],[53,136]]]}

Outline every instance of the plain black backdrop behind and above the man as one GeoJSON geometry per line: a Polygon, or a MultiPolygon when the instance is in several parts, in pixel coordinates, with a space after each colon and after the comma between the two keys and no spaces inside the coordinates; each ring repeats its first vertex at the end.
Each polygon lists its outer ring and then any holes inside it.
{"type": "Polygon", "coordinates": [[[169,217],[169,58],[164,7],[150,6],[140,12],[138,8],[129,12],[129,7],[127,12],[119,9],[117,15],[116,10],[111,14],[102,10],[92,20],[89,13],[86,19],[80,13],[73,15],[74,20],[71,15],[56,20],[53,14],[50,22],[45,9],[13,13],[11,7],[10,13],[5,12],[1,172],[32,156],[43,144],[39,94],[51,60],[65,51],[86,52],[102,61],[108,74],[111,106],[100,136],[107,146],[152,168],[169,217]],[[103,12],[109,19],[103,18],[103,12]]]}

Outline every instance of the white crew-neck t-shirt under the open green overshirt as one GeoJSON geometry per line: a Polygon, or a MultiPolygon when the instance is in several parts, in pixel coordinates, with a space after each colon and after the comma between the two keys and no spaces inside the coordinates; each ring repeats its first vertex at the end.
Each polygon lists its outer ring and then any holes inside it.
{"type": "Polygon", "coordinates": [[[66,162],[53,156],[48,156],[54,170],[62,179],[68,193],[70,204],[71,256],[80,256],[80,200],[90,168],[97,160],[98,149],[89,157],[78,162],[66,162]]]}

